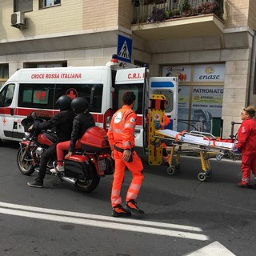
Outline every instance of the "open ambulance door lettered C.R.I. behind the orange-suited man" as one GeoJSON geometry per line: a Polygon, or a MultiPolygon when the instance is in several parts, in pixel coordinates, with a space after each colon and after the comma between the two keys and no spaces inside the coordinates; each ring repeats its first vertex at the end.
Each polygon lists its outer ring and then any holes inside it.
{"type": "Polygon", "coordinates": [[[149,93],[146,83],[146,68],[117,70],[114,82],[114,111],[122,107],[122,96],[126,91],[134,92],[136,101],[134,111],[138,115],[135,128],[135,146],[143,147],[146,142],[146,113],[148,109],[149,93]]]}

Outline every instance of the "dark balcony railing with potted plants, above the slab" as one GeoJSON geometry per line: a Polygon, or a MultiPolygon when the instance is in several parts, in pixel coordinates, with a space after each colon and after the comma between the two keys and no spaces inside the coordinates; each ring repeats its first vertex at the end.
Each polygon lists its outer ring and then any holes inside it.
{"type": "Polygon", "coordinates": [[[132,24],[164,22],[172,18],[215,14],[223,19],[224,0],[132,0],[132,24]]]}

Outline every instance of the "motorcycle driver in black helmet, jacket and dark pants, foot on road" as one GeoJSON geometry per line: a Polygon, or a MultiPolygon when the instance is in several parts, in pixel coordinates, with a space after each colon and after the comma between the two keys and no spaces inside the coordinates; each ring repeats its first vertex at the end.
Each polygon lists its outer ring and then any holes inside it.
{"type": "Polygon", "coordinates": [[[46,130],[50,128],[55,128],[58,141],[52,144],[41,157],[41,162],[39,166],[38,177],[34,182],[27,182],[28,186],[42,187],[43,179],[46,176],[47,162],[49,159],[56,154],[56,145],[58,142],[65,142],[70,139],[71,131],[73,126],[73,120],[75,117],[74,110],[71,109],[72,99],[66,95],[62,95],[58,98],[56,104],[58,104],[59,112],[50,118],[49,121],[39,122],[30,126],[29,130],[46,130]]]}

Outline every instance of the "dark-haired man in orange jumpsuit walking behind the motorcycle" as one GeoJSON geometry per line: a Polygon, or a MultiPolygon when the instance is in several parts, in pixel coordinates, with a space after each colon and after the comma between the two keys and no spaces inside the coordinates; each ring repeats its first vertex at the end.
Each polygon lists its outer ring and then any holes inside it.
{"type": "Polygon", "coordinates": [[[142,161],[134,151],[134,130],[137,118],[137,114],[133,110],[135,94],[127,91],[123,95],[122,101],[123,106],[111,119],[110,129],[107,133],[112,150],[112,158],[114,158],[115,162],[111,191],[112,215],[114,217],[130,216],[131,212],[144,214],[144,211],[138,208],[135,201],[144,178],[142,161]],[[122,207],[120,193],[126,167],[132,174],[132,180],[126,194],[126,206],[122,207]]]}

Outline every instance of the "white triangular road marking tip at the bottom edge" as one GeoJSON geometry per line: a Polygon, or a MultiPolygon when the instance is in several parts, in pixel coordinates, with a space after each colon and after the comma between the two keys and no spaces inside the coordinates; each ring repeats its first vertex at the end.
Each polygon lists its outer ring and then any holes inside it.
{"type": "Polygon", "coordinates": [[[186,256],[235,256],[230,250],[227,250],[225,246],[222,246],[220,242],[213,242],[210,245],[195,251],[192,254],[186,254],[186,256]]]}

